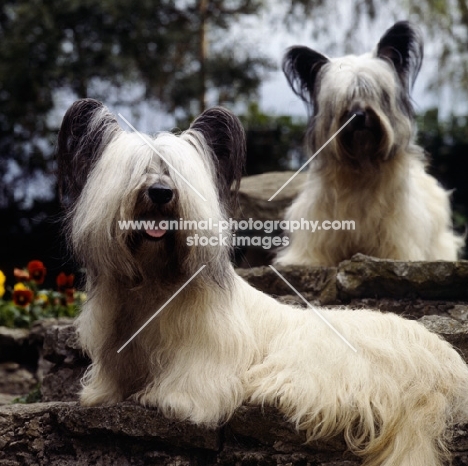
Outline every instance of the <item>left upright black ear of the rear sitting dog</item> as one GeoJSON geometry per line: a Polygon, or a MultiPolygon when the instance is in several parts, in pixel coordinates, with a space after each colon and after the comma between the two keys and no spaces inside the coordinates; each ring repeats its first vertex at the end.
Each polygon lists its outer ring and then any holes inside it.
{"type": "Polygon", "coordinates": [[[312,104],[317,75],[329,59],[308,47],[291,47],[283,58],[283,72],[291,89],[303,101],[312,104]]]}

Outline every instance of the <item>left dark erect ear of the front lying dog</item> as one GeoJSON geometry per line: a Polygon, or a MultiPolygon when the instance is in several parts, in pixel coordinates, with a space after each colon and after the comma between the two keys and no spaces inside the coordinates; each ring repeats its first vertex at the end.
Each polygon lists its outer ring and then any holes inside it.
{"type": "Polygon", "coordinates": [[[76,101],[65,113],[57,143],[58,187],[65,207],[75,203],[88,174],[119,126],[97,100],[76,101]]]}

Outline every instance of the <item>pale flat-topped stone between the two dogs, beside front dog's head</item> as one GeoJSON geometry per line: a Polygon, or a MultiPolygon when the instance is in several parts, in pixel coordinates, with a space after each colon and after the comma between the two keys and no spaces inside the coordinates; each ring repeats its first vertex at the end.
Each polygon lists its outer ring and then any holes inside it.
{"type": "Polygon", "coordinates": [[[242,178],[239,189],[239,219],[282,220],[287,207],[299,194],[307,177],[299,173],[274,199],[268,201],[295,172],[270,172],[242,178]]]}

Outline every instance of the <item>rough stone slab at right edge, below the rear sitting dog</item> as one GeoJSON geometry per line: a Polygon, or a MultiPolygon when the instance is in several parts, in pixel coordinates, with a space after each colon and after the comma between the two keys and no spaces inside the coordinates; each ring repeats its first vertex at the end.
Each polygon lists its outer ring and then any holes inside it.
{"type": "Polygon", "coordinates": [[[338,266],[338,296],[468,299],[468,261],[403,262],[356,254],[338,266]]]}

